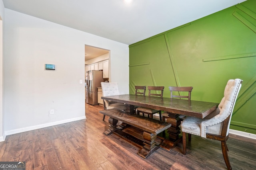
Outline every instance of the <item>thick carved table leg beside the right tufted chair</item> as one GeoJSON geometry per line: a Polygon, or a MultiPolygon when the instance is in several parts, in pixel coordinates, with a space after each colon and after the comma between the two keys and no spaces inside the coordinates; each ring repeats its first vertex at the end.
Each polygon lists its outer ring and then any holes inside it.
{"type": "Polygon", "coordinates": [[[161,147],[167,150],[170,150],[172,147],[174,147],[178,142],[182,140],[182,137],[179,137],[180,134],[180,123],[181,119],[179,117],[179,114],[176,113],[169,113],[169,117],[167,118],[166,122],[172,123],[172,126],[168,128],[167,133],[169,133],[169,140],[165,139],[161,147]]]}

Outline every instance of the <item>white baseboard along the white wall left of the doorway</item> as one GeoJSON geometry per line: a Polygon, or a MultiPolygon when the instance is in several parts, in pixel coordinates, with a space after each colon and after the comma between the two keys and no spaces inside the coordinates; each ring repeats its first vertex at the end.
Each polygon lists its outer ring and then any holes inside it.
{"type": "MultiPolygon", "coordinates": [[[[32,130],[35,130],[35,129],[41,129],[41,128],[44,128],[44,127],[60,125],[60,124],[63,124],[63,123],[78,121],[78,120],[82,120],[82,119],[86,119],[86,116],[81,116],[81,117],[76,117],[76,118],[72,118],[72,119],[66,119],[66,120],[56,121],[56,122],[51,122],[51,123],[45,123],[45,124],[36,125],[36,126],[23,127],[23,128],[20,128],[20,129],[14,129],[14,130],[11,130],[11,131],[6,131],[5,136],[16,134],[16,133],[21,133],[21,132],[26,132],[26,131],[32,131],[32,130]]],[[[1,138],[0,138],[0,140],[1,140],[1,138]]]]}

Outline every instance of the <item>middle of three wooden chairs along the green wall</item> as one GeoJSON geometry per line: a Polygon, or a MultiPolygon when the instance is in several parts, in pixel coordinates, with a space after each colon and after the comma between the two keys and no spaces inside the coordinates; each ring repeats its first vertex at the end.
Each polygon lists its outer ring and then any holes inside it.
{"type": "MultiPolygon", "coordinates": [[[[163,93],[164,93],[164,86],[148,86],[148,96],[158,96],[160,98],[163,98],[163,93]],[[153,91],[155,91],[155,93],[153,93],[153,91]]],[[[159,113],[160,120],[162,120],[161,110],[150,109],[147,107],[138,107],[137,114],[139,115],[140,113],[142,113],[143,116],[146,113],[150,118],[153,118],[153,115],[155,113],[159,113]]]]}

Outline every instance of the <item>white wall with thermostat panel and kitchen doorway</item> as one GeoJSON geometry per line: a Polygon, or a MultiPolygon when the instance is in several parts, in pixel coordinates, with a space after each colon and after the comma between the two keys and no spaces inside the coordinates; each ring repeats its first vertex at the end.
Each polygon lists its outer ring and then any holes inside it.
{"type": "Polygon", "coordinates": [[[9,9],[4,28],[6,135],[85,117],[85,44],[111,51],[111,78],[129,93],[128,45],[9,9]]]}

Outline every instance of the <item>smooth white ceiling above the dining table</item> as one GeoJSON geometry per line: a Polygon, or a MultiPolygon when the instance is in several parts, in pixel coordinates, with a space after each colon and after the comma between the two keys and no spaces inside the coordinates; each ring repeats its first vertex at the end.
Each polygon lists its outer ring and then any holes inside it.
{"type": "Polygon", "coordinates": [[[5,8],[130,45],[245,0],[3,0],[5,8]]]}

